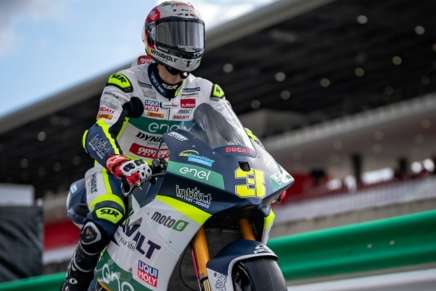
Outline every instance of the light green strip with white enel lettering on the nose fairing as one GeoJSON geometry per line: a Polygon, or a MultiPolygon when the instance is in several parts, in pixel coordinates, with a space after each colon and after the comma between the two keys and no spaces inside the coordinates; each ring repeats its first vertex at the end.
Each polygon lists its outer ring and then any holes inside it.
{"type": "Polygon", "coordinates": [[[224,189],[223,176],[215,171],[203,167],[170,161],[168,162],[167,171],[172,174],[208,184],[219,189],[224,189]]]}

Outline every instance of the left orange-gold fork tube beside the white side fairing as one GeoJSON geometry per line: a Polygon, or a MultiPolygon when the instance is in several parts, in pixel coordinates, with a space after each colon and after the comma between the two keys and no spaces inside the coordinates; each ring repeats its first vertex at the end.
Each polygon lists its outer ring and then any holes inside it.
{"type": "Polygon", "coordinates": [[[206,264],[209,261],[209,248],[207,246],[206,232],[201,227],[194,237],[192,248],[194,250],[197,271],[200,279],[202,290],[211,290],[209,280],[207,279],[206,264]]]}

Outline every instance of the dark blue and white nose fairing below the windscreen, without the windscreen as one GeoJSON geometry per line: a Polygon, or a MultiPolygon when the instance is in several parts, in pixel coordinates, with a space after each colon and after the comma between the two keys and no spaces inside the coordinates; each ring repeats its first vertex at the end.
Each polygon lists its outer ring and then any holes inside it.
{"type": "MultiPolygon", "coordinates": [[[[241,206],[243,206],[242,204],[262,206],[262,204],[266,204],[265,201],[271,203],[270,198],[278,197],[279,193],[288,188],[294,181],[292,176],[262,146],[256,143],[253,144],[256,153],[254,157],[245,154],[229,154],[225,153],[226,147],[213,149],[186,130],[177,129],[175,132],[183,136],[185,140],[180,142],[173,136],[164,135],[163,140],[170,152],[167,173],[183,177],[183,179],[199,184],[201,187],[209,188],[211,193],[218,193],[217,196],[223,197],[220,199],[221,201],[235,199],[241,206]],[[213,164],[210,167],[200,165],[190,161],[183,155],[183,153],[192,152],[193,150],[201,157],[212,160],[213,164]],[[251,179],[250,173],[247,173],[246,178],[236,177],[238,171],[242,172],[242,174],[247,172],[241,170],[243,164],[248,164],[251,170],[259,171],[264,176],[265,193],[263,195],[247,196],[237,193],[237,186],[244,186],[244,183],[251,179]],[[183,172],[180,170],[182,167],[185,170],[183,172]],[[186,175],[187,170],[202,171],[202,173],[207,173],[208,177],[216,179],[214,181],[195,179],[190,175],[186,175]],[[220,181],[215,181],[217,179],[220,181]]],[[[221,211],[222,209],[217,208],[216,210],[221,211]]],[[[269,213],[269,211],[264,212],[265,215],[269,213]]],[[[211,213],[216,212],[212,211],[211,213]]]]}

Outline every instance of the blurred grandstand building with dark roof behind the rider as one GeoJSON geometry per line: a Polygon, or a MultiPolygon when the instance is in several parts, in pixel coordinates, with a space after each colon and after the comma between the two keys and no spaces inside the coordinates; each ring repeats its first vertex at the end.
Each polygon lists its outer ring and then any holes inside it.
{"type": "MultiPolygon", "coordinates": [[[[223,87],[296,178],[273,235],[436,207],[434,11],[432,0],[282,0],[208,31],[196,75],[223,87]]],[[[77,240],[65,198],[91,166],[81,136],[108,74],[0,118],[0,182],[44,201],[46,272],[77,240]]]]}

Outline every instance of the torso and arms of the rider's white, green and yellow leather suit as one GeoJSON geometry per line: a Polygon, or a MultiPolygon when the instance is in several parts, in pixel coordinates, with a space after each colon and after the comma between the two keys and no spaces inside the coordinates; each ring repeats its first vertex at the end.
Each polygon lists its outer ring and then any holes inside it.
{"type": "Polygon", "coordinates": [[[108,155],[118,153],[148,161],[166,157],[165,148],[158,154],[163,134],[191,121],[200,104],[224,100],[218,85],[192,74],[177,88],[167,90],[156,80],[151,66],[156,64],[132,66],[109,77],[100,99],[98,130],[91,128],[84,135],[86,150],[100,164],[105,164],[108,155]],[[173,96],[163,95],[168,93],[173,96]],[[144,111],[138,118],[129,118],[123,112],[134,97],[139,98],[144,111]],[[95,135],[106,142],[95,141],[95,135]]]}

